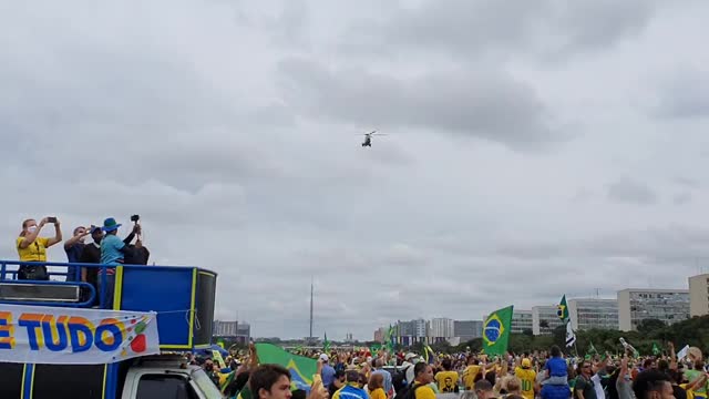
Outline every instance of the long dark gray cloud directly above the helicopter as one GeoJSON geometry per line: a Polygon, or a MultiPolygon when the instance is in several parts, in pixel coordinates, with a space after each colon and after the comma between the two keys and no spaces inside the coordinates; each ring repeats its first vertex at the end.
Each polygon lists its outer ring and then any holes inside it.
{"type": "Polygon", "coordinates": [[[331,70],[305,59],[280,64],[287,100],[312,117],[381,129],[477,136],[513,149],[564,140],[534,90],[491,70],[440,71],[413,79],[331,70]],[[364,84],[363,84],[364,83],[364,84]]]}

